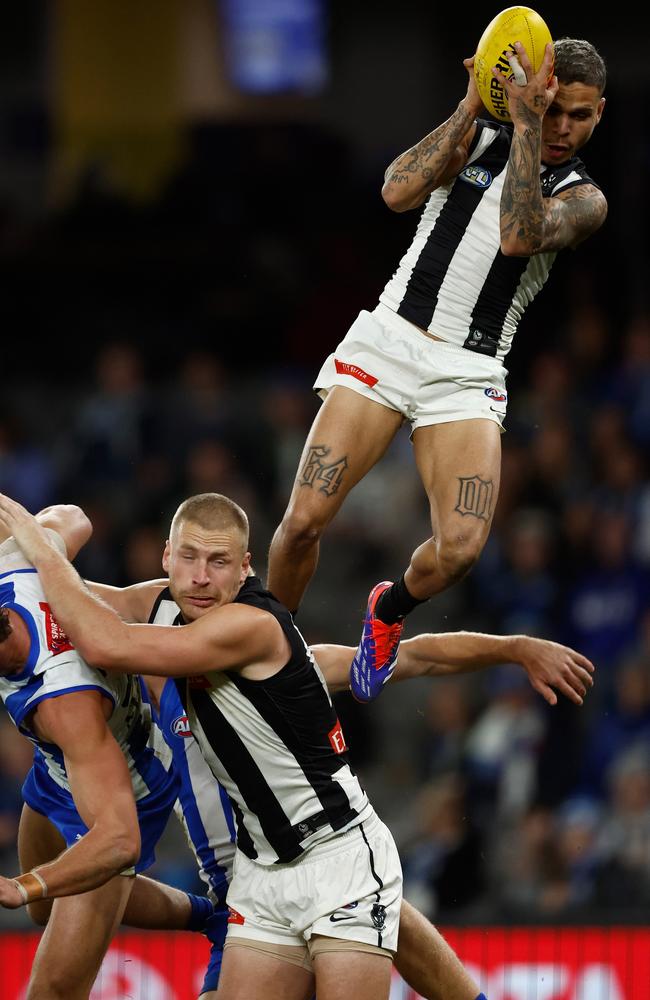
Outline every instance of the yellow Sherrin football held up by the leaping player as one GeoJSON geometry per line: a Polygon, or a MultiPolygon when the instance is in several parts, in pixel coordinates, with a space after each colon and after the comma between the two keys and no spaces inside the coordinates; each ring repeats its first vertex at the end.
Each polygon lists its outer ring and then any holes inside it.
{"type": "Polygon", "coordinates": [[[544,49],[552,41],[546,22],[530,7],[506,7],[488,24],[476,47],[474,78],[483,104],[499,121],[509,122],[511,118],[508,96],[492,75],[492,67],[496,66],[507,79],[523,85],[526,74],[514,54],[515,42],[524,46],[536,73],[542,65],[544,49]]]}

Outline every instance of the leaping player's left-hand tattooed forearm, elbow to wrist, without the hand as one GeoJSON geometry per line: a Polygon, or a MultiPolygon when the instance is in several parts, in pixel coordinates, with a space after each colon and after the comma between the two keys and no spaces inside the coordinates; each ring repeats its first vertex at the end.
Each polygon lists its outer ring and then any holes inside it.
{"type": "Polygon", "coordinates": [[[422,204],[445,176],[458,144],[474,120],[473,110],[463,99],[447,121],[393,160],[384,175],[381,192],[389,208],[403,212],[422,204]]]}

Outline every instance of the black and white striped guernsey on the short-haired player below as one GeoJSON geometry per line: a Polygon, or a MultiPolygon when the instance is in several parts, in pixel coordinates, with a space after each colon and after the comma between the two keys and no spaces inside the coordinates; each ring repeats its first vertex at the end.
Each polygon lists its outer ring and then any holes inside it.
{"type": "MultiPolygon", "coordinates": [[[[232,802],[237,846],[260,864],[285,863],[373,809],[350,767],[323,675],[291,615],[257,577],[245,581],[236,602],[277,618],[291,648],[288,662],[263,681],[219,670],[177,683],[192,734],[232,802]]],[[[169,591],[152,619],[181,623],[169,591]]]]}

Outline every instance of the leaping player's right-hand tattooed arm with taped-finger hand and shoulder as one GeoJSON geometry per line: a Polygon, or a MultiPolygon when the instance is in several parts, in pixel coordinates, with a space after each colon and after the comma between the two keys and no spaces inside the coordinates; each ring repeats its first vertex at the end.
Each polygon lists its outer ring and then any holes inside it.
{"type": "Polygon", "coordinates": [[[523,47],[518,53],[527,69],[528,84],[519,87],[495,72],[508,92],[514,124],[508,170],[501,194],[501,251],[526,257],[576,246],[605,221],[607,202],[593,184],[542,196],[540,164],[542,121],[558,90],[553,77],[547,86],[552,50],[548,48],[538,73],[532,74],[523,47]]]}

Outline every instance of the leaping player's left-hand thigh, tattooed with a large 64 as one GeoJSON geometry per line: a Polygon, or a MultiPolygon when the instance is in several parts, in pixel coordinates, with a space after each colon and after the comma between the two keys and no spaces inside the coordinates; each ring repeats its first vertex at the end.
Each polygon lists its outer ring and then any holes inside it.
{"type": "Polygon", "coordinates": [[[337,510],[385,454],[401,425],[397,410],[353,389],[335,386],[307,437],[290,509],[337,510]]]}

